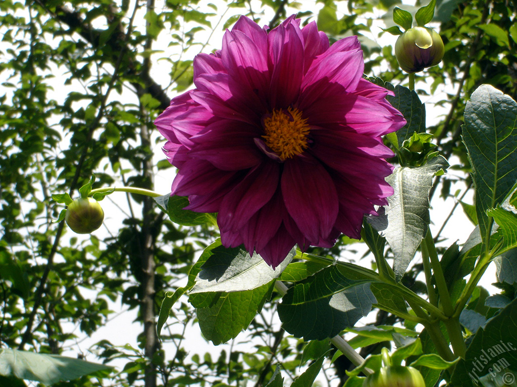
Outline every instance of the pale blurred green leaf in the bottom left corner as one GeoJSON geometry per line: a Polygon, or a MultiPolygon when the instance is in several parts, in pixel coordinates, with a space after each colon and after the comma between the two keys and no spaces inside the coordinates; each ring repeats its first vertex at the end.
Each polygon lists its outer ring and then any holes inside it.
{"type": "Polygon", "coordinates": [[[16,376],[43,384],[77,379],[111,367],[46,353],[0,349],[0,375],[16,376]]]}

